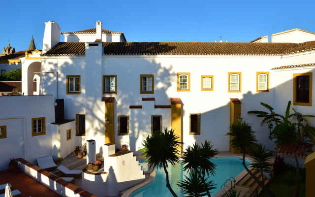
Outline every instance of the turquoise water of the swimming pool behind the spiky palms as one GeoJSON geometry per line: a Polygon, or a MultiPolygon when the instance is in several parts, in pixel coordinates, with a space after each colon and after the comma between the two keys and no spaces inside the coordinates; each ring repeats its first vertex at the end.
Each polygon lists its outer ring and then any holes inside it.
{"type": "MultiPolygon", "coordinates": [[[[244,166],[242,164],[242,159],[236,157],[218,157],[214,158],[212,162],[217,165],[216,175],[210,177],[210,179],[213,180],[215,184],[217,184],[217,188],[210,191],[211,195],[213,196],[220,191],[221,185],[227,178],[230,176],[236,177],[244,170],[244,166]]],[[[139,163],[140,165],[144,166],[144,170],[146,171],[147,166],[144,160],[139,160],[139,163]]],[[[250,164],[251,163],[249,161],[246,161],[247,166],[250,164]]],[[[171,193],[166,188],[166,179],[163,168],[155,170],[155,180],[150,184],[134,191],[130,197],[172,197],[171,193]]],[[[188,174],[183,173],[181,164],[177,164],[175,167],[169,165],[168,173],[172,189],[177,194],[177,196],[184,197],[185,195],[180,193],[180,188],[176,185],[176,183],[179,180],[183,180],[185,175],[188,176],[188,174]]]]}

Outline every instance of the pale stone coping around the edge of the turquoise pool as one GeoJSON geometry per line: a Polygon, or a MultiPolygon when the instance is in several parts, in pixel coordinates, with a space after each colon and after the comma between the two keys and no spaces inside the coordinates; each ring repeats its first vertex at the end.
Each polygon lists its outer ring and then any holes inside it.
{"type": "MultiPolygon", "coordinates": [[[[219,152],[219,154],[216,157],[237,157],[237,158],[241,158],[243,159],[243,154],[233,154],[231,152],[219,152]]],[[[138,157],[137,157],[138,158],[138,157]]],[[[140,158],[139,159],[145,159],[145,158],[140,158]]],[[[245,159],[247,160],[251,160],[251,158],[246,154],[245,155],[245,159]]],[[[252,169],[252,167],[248,167],[250,170],[252,169]]],[[[244,169],[239,175],[237,175],[236,177],[234,177],[235,179],[235,185],[247,174],[246,169],[244,169]]],[[[134,191],[136,191],[137,189],[151,183],[152,181],[154,181],[154,179],[156,178],[156,171],[153,170],[152,173],[150,174],[150,177],[139,183],[138,185],[135,185],[127,190],[125,190],[124,194],[121,197],[129,197],[134,191]]],[[[220,186],[221,187],[221,186],[220,186]]],[[[226,193],[229,189],[231,189],[231,185],[230,184],[226,184],[219,192],[217,192],[215,195],[213,195],[212,197],[221,197],[222,193],[226,193]]]]}

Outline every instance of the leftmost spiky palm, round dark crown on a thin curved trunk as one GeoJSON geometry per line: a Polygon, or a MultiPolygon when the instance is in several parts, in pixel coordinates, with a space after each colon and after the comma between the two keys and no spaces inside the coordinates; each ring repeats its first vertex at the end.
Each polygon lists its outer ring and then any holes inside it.
{"type": "Polygon", "coordinates": [[[179,147],[182,142],[178,141],[178,138],[179,136],[175,135],[174,130],[167,130],[167,128],[165,128],[164,132],[156,132],[152,135],[147,135],[142,142],[143,148],[140,149],[142,151],[140,155],[144,155],[147,158],[146,161],[150,168],[164,168],[166,187],[174,197],[177,197],[177,195],[169,184],[167,168],[168,163],[173,166],[179,163],[179,147]]]}

